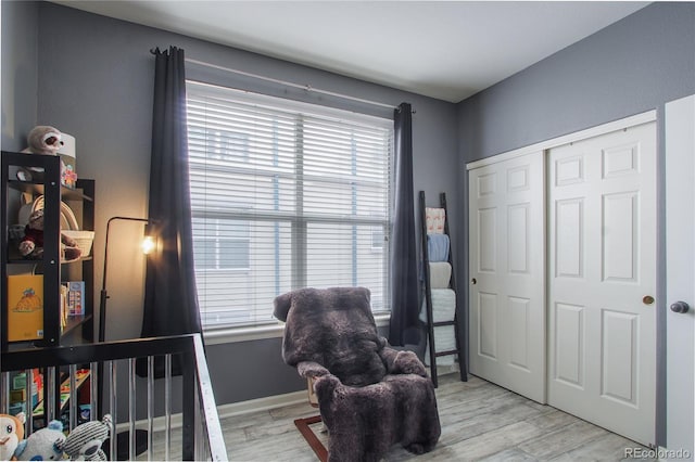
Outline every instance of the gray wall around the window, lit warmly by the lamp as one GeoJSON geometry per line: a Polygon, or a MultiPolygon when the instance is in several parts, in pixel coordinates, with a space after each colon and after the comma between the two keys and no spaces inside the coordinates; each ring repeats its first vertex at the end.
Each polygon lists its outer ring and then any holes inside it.
{"type": "MultiPolygon", "coordinates": [[[[76,138],[77,172],[96,179],[97,184],[97,288],[109,217],[147,216],[154,67],[150,49],[155,47],[166,49],[173,44],[182,48],[190,59],[394,106],[409,102],[417,112],[413,124],[416,194],[426,190],[432,197],[440,191],[455,196],[458,174],[451,168],[458,162],[455,104],[52,3],[13,4],[7,11],[5,3],[2,2],[3,26],[5,22],[15,24],[12,30],[24,30],[29,36],[27,43],[33,40],[41,53],[27,57],[34,63],[29,78],[17,80],[18,88],[8,90],[15,95],[38,94],[38,99],[34,97],[37,110],[33,114],[5,115],[3,104],[3,125],[5,118],[17,124],[21,129],[15,130],[15,138],[22,140],[38,123],[54,125],[76,138]]],[[[3,93],[5,76],[24,65],[23,46],[18,43],[14,43],[15,53],[5,63],[7,33],[3,27],[3,93]]],[[[190,66],[190,76],[223,79],[236,87],[260,87],[248,79],[213,74],[190,66]]],[[[309,99],[326,102],[325,98],[309,99]]],[[[368,110],[384,114],[383,110],[368,110]]],[[[22,144],[11,147],[22,149],[22,144]]],[[[456,217],[456,211],[452,215],[456,217]]],[[[138,241],[142,230],[131,222],[114,226],[117,229],[112,228],[110,255],[116,257],[110,258],[109,265],[106,339],[139,336],[142,318],[143,260],[137,248],[128,245],[138,241]]],[[[295,371],[282,362],[278,338],[210,345],[207,360],[219,405],[305,387],[295,371]]]]}

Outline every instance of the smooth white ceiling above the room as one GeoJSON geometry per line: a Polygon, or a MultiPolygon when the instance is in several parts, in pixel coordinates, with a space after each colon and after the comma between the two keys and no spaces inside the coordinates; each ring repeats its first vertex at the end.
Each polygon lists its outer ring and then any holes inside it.
{"type": "Polygon", "coordinates": [[[451,102],[648,4],[340,0],[55,3],[451,102]]]}

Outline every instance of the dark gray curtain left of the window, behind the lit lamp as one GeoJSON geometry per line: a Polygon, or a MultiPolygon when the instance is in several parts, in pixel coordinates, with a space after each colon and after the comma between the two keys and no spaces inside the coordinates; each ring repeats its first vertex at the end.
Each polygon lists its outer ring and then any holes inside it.
{"type": "MultiPolygon", "coordinates": [[[[186,126],[184,50],[153,50],[154,111],[149,218],[157,251],[148,258],[142,337],[201,332],[195,290],[186,126]]],[[[157,358],[159,359],[159,358],[157,358]]],[[[174,358],[174,373],[180,363],[174,358]]],[[[164,361],[155,361],[163,376],[164,361]]],[[[138,373],[147,364],[138,363],[138,373]]]]}

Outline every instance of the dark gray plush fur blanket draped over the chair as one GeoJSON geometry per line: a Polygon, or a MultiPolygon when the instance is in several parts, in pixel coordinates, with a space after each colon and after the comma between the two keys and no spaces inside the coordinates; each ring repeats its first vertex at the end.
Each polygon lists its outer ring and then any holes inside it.
{"type": "Polygon", "coordinates": [[[378,461],[395,444],[432,450],[441,428],[434,387],[412,351],[377,332],[365,287],[301,288],[275,299],[282,358],[314,388],[329,461],[378,461]]]}

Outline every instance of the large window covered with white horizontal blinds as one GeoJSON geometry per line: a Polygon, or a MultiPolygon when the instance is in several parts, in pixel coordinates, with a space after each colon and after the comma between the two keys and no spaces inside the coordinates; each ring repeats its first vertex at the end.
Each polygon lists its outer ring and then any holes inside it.
{"type": "Polygon", "coordinates": [[[389,309],[393,121],[187,82],[205,329],[275,322],[292,288],[363,285],[389,309]]]}

